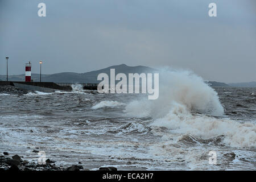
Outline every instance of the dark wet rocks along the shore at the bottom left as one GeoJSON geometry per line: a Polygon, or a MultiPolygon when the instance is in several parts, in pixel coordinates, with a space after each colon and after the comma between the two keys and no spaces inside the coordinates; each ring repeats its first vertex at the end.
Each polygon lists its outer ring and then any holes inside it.
{"type": "MultiPolygon", "coordinates": [[[[57,166],[54,161],[47,159],[45,164],[36,164],[23,160],[19,155],[10,156],[3,152],[0,156],[0,171],[89,171],[81,165],[72,165],[64,168],[57,166]]],[[[115,167],[100,167],[98,171],[117,171],[115,167]]]]}

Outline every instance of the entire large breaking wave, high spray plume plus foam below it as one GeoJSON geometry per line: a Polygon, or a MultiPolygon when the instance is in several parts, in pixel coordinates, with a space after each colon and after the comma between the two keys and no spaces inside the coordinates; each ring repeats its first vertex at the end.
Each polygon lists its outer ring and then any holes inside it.
{"type": "Polygon", "coordinates": [[[232,147],[256,147],[254,123],[239,123],[222,116],[224,109],[217,93],[203,78],[188,71],[162,71],[159,74],[158,100],[137,100],[126,106],[135,117],[152,117],[151,126],[166,127],[171,133],[191,134],[201,138],[224,135],[222,141],[232,147]],[[192,111],[202,113],[193,115],[192,111]]]}

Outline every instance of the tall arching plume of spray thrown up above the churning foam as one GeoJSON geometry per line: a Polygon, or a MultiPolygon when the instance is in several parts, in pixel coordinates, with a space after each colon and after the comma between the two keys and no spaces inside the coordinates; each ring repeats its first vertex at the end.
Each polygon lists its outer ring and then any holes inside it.
{"type": "Polygon", "coordinates": [[[130,102],[126,113],[152,118],[164,117],[173,105],[180,104],[188,111],[218,115],[224,109],[218,100],[217,92],[205,84],[203,78],[189,71],[163,70],[159,74],[159,98],[154,101],[145,99],[130,102]]]}

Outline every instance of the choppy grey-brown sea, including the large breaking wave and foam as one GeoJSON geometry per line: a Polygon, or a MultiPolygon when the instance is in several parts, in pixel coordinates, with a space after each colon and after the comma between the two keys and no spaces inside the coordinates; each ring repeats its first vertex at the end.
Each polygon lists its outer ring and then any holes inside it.
{"type": "Polygon", "coordinates": [[[45,151],[56,164],[88,169],[255,170],[256,88],[170,84],[158,100],[81,89],[0,93],[0,151],[35,162],[32,151],[45,151]]]}

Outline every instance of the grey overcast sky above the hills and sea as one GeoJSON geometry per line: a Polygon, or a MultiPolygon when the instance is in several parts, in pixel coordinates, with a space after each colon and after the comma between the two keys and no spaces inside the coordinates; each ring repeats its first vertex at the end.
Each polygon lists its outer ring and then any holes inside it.
{"type": "Polygon", "coordinates": [[[0,0],[0,75],[84,73],[110,65],[191,69],[256,81],[255,0],[0,0]],[[38,4],[46,3],[46,17],[38,4]],[[208,5],[217,4],[217,17],[208,5]]]}

